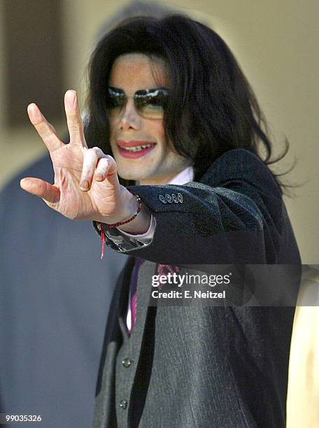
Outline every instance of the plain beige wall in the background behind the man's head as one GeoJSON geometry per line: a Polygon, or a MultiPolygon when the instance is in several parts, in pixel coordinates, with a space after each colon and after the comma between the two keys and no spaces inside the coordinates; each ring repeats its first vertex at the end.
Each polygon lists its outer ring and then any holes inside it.
{"type": "MultiPolygon", "coordinates": [[[[126,1],[65,0],[64,37],[67,83],[84,90],[83,73],[97,29],[126,1]]],[[[253,85],[275,142],[290,141],[290,155],[281,162],[297,166],[286,176],[290,183],[305,183],[287,199],[304,263],[318,262],[318,2],[286,0],[202,1],[180,0],[174,5],[197,8],[225,38],[253,85]]],[[[0,1],[0,67],[1,1],[0,1]]],[[[45,78],[45,76],[43,76],[45,78]]],[[[49,84],[49,83],[48,83],[49,84]]],[[[45,151],[31,126],[9,131],[2,122],[3,81],[0,76],[0,185],[45,151]]],[[[82,97],[83,99],[83,97],[82,97]]],[[[30,100],[32,101],[32,100],[30,100]]],[[[57,124],[63,129],[64,124],[57,124]]]]}

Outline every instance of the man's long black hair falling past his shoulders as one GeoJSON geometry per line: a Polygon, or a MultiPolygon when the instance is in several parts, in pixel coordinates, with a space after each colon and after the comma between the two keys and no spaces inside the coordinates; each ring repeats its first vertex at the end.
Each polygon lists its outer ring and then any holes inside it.
{"type": "Polygon", "coordinates": [[[130,18],[99,41],[89,67],[85,124],[89,146],[111,154],[108,79],[115,59],[132,52],[164,59],[171,83],[164,112],[166,141],[180,155],[193,159],[197,178],[216,157],[233,148],[254,152],[264,164],[285,156],[287,140],[284,152],[272,159],[267,122],[226,43],[206,25],[175,13],[130,18]]]}

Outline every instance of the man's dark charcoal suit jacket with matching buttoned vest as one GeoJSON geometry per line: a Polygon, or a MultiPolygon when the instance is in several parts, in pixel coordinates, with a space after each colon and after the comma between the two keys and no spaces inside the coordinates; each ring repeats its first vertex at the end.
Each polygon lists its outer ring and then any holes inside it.
{"type": "MultiPolygon", "coordinates": [[[[251,152],[236,149],[216,159],[199,183],[132,190],[153,210],[155,235],[148,245],[117,229],[107,238],[111,248],[147,262],[139,273],[130,338],[125,317],[132,261],[115,290],[94,427],[284,427],[293,306],[150,306],[158,263],[182,266],[184,273],[190,264],[299,266],[269,169],[251,152]],[[129,367],[120,361],[125,352],[134,360],[129,367]]],[[[277,290],[272,280],[262,284],[261,294],[268,286],[277,290]]]]}

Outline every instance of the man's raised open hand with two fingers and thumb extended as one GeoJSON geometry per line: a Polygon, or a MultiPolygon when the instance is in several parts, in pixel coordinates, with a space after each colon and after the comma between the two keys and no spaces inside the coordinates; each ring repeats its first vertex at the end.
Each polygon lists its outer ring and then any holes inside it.
{"type": "Polygon", "coordinates": [[[23,178],[22,189],[41,197],[48,206],[72,220],[113,224],[136,211],[136,198],[118,181],[113,157],[99,148],[87,148],[76,92],[64,97],[70,143],[63,143],[36,104],[27,111],[31,123],[49,150],[54,184],[40,178],[23,178]]]}

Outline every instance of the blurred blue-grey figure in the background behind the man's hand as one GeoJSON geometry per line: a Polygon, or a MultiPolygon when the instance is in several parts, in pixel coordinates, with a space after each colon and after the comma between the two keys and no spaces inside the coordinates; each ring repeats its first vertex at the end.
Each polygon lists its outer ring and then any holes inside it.
{"type": "MultiPolygon", "coordinates": [[[[165,12],[156,3],[128,3],[99,33],[125,17],[165,12]]],[[[1,412],[41,415],[45,427],[87,428],[108,307],[127,257],[107,250],[101,260],[92,223],[50,212],[20,189],[26,175],[51,181],[50,157],[0,194],[1,412]]]]}

